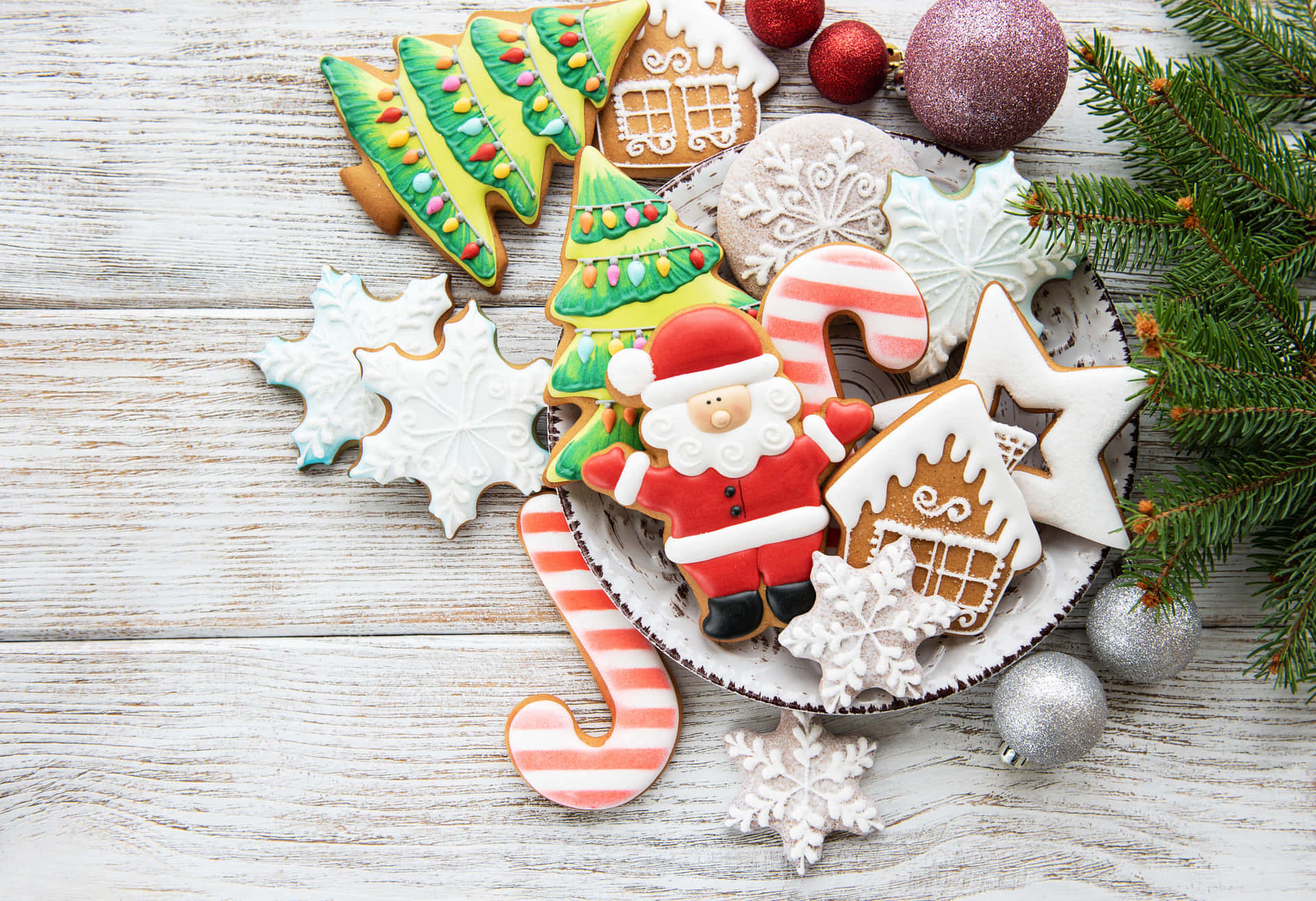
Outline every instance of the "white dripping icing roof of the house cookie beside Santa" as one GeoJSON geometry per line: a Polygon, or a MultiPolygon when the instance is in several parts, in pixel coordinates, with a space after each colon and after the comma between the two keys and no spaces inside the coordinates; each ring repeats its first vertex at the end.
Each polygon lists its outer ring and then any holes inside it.
{"type": "Polygon", "coordinates": [[[871,503],[876,512],[886,507],[887,485],[892,476],[900,479],[901,487],[908,487],[919,457],[937,465],[946,439],[951,436],[955,440],[950,445],[950,460],[959,462],[967,457],[965,483],[970,485],[980,473],[987,473],[976,498],[979,505],[990,505],[987,535],[996,535],[996,530],[1004,526],[995,539],[1000,556],[1019,541],[1013,568],[1032,566],[1042,557],[1042,543],[1024,495],[1000,458],[995,424],[987,415],[982,393],[973,383],[919,404],[909,419],[869,441],[849,468],[828,483],[828,506],[848,530],[853,530],[859,523],[865,502],[871,503]]]}

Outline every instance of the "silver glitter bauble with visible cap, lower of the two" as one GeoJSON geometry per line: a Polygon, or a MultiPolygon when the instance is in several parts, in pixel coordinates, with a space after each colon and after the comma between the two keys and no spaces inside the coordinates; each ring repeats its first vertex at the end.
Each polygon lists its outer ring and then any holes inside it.
{"type": "Polygon", "coordinates": [[[1001,677],[991,702],[1000,759],[1012,767],[1078,760],[1105,727],[1105,692],[1087,664],[1067,653],[1030,653],[1001,677]]]}

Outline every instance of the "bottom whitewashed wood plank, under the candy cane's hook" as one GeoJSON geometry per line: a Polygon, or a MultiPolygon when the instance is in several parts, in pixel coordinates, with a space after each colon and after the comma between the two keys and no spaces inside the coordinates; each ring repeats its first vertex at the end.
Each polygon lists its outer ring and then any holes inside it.
{"type": "Polygon", "coordinates": [[[565,636],[5,644],[0,894],[1309,897],[1316,719],[1238,673],[1249,642],[1208,630],[1179,678],[1108,685],[1101,743],[1045,773],[995,759],[991,684],[834,721],[879,739],[865,789],[888,826],[805,879],[771,833],[720,825],[720,736],[775,714],[686,673],[684,735],[636,802],[572,813],[521,782],[522,696],[600,724],[565,636]]]}

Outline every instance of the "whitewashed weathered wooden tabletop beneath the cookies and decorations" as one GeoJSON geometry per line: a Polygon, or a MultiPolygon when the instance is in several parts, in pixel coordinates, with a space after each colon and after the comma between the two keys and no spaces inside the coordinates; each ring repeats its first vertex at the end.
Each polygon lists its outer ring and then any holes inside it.
{"type": "MultiPolygon", "coordinates": [[[[388,68],[395,33],[458,30],[472,5],[0,7],[0,897],[1312,897],[1316,707],[1242,674],[1242,556],[1202,591],[1179,678],[1107,680],[1079,763],[1001,767],[992,682],[837,721],[882,743],[865,785],[888,829],[805,879],[774,834],[720,826],[738,780],[720,736],[775,713],[684,672],[684,734],[636,802],[569,811],[517,777],[503,722],[524,696],[605,722],[516,543],[520,495],[445,541],[421,487],[349,481],[354,453],[299,473],[301,404],[246,362],[304,333],[322,262],[382,292],[443,271],[342,190],[355,155],[316,61],[388,68]]],[[[829,21],[903,42],[926,5],[829,21]]],[[[1152,0],[1051,7],[1069,34],[1190,46],[1152,0]]],[[[772,55],[767,120],[829,108],[803,49],[772,55]]],[[[851,112],[921,133],[900,100],[851,112]]],[[[1073,78],[1019,157],[1120,170],[1073,78]]],[[[454,278],[516,361],[555,342],[567,170],[553,187],[538,232],[504,231],[503,295],[454,278]]],[[[1146,285],[1108,275],[1120,298],[1146,285]]],[[[1169,468],[1144,436],[1142,472],[1169,468]]],[[[1083,613],[1046,647],[1087,657],[1083,613]]]]}

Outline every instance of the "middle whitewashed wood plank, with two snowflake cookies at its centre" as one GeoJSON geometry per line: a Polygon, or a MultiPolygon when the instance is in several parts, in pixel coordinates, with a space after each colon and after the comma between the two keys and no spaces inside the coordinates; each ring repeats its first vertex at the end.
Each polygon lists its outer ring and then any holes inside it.
{"type": "MultiPolygon", "coordinates": [[[[511,360],[551,352],[542,316],[491,315],[511,360]]],[[[446,541],[421,486],[346,478],[354,449],[297,472],[301,400],[246,357],[309,324],[268,310],[0,315],[0,638],[562,630],[516,540],[519,493],[494,489],[446,541]]],[[[1140,470],[1171,461],[1148,433],[1140,470]]],[[[1237,555],[1202,593],[1207,623],[1258,622],[1246,565],[1237,555]]]]}

